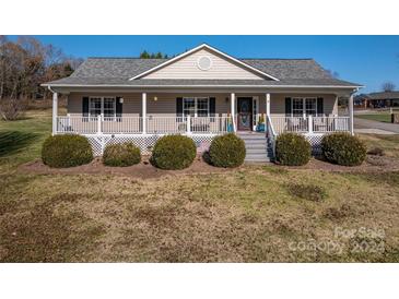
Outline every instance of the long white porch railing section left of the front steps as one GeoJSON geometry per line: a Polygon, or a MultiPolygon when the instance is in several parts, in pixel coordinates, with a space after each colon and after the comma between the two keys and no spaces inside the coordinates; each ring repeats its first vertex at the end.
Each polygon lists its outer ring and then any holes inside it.
{"type": "Polygon", "coordinates": [[[57,133],[77,134],[223,134],[233,130],[231,117],[57,117],[57,133]]]}

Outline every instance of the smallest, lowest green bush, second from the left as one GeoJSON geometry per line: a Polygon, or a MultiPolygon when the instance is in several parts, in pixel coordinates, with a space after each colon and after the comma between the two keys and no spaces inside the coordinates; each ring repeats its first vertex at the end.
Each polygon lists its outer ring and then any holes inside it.
{"type": "Polygon", "coordinates": [[[140,148],[131,142],[108,144],[103,154],[103,163],[107,166],[131,166],[141,160],[140,148]]]}

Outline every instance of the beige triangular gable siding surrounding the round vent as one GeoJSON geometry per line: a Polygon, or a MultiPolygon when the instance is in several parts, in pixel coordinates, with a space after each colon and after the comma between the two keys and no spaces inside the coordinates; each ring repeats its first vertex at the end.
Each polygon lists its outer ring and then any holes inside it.
{"type": "Polygon", "coordinates": [[[237,63],[231,62],[221,56],[206,49],[193,52],[181,58],[169,65],[150,73],[143,79],[251,79],[263,80],[237,63]],[[197,67],[197,61],[201,56],[208,56],[212,60],[211,69],[203,71],[197,67]]]}

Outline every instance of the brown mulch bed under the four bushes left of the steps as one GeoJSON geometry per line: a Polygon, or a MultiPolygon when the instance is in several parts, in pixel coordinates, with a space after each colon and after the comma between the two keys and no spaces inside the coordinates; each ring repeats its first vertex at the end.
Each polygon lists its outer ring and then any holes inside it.
{"type": "Polygon", "coordinates": [[[141,179],[148,179],[148,178],[160,178],[163,176],[226,172],[226,171],[232,171],[232,169],[213,167],[203,162],[202,158],[197,157],[192,163],[192,165],[186,169],[163,170],[153,167],[149,163],[149,158],[143,157],[140,164],[129,167],[105,166],[103,165],[101,158],[95,158],[92,163],[82,166],[70,167],[70,168],[50,168],[47,165],[43,164],[40,159],[37,159],[20,166],[20,171],[37,174],[37,175],[58,175],[58,174],[122,175],[122,176],[132,176],[141,179]]]}

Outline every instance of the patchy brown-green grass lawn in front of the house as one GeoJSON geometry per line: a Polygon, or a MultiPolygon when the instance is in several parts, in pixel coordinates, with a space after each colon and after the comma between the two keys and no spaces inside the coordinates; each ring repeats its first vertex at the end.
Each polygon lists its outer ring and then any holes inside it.
{"type": "Polygon", "coordinates": [[[0,261],[399,261],[399,136],[362,136],[375,170],[30,172],[50,121],[0,122],[0,261]]]}

